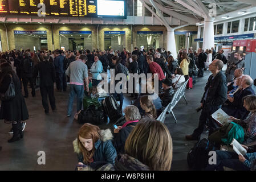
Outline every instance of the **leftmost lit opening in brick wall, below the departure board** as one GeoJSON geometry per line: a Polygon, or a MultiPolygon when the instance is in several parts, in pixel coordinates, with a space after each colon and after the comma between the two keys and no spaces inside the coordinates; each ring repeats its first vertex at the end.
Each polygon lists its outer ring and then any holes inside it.
{"type": "Polygon", "coordinates": [[[14,34],[15,49],[47,50],[46,34],[14,34]]]}

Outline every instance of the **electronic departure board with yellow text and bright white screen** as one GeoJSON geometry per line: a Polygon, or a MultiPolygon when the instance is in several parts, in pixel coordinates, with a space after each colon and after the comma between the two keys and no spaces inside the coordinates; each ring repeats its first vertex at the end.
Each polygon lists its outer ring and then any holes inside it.
{"type": "Polygon", "coordinates": [[[0,0],[0,15],[126,18],[125,0],[0,0]]]}

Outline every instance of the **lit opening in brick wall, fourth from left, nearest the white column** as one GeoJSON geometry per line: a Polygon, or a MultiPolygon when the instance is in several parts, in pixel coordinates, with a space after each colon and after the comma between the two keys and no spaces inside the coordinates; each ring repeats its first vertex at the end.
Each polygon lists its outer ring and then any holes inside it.
{"type": "Polygon", "coordinates": [[[163,35],[162,34],[137,34],[137,47],[139,49],[163,48],[163,35]]]}

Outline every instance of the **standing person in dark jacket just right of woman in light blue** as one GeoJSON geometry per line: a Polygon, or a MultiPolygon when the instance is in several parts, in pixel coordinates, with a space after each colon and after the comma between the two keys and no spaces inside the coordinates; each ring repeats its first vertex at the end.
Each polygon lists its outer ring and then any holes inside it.
{"type": "MultiPolygon", "coordinates": [[[[125,68],[124,65],[122,65],[120,63],[120,59],[118,56],[112,56],[111,57],[112,59],[112,63],[113,65],[115,65],[115,77],[118,73],[124,73],[125,74],[125,68]]],[[[127,68],[126,68],[127,69],[127,68]]],[[[129,74],[129,73],[128,73],[129,74]]],[[[125,74],[127,75],[127,74],[125,74]]],[[[116,84],[118,84],[120,81],[118,80],[115,80],[115,88],[116,88],[116,84]]],[[[120,89],[122,89],[122,85],[120,85],[120,89]]],[[[123,92],[121,93],[116,93],[116,90],[115,90],[115,94],[114,94],[114,97],[115,98],[119,98],[119,101],[120,101],[120,111],[123,110],[123,102],[124,102],[124,95],[123,95],[123,92]]]]}

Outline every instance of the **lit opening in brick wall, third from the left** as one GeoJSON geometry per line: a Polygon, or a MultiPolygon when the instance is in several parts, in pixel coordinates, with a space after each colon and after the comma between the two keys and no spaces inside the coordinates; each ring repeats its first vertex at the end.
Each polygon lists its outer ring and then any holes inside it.
{"type": "Polygon", "coordinates": [[[123,51],[125,45],[124,34],[104,34],[104,49],[123,51]]]}

